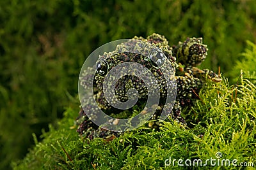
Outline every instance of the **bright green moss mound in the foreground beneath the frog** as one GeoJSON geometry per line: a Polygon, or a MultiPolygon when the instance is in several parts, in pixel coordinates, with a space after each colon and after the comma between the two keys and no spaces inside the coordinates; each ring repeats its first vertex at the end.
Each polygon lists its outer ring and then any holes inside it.
{"type": "MultiPolygon", "coordinates": [[[[190,111],[194,124],[182,127],[164,122],[159,131],[141,127],[126,132],[113,141],[81,139],[74,125],[77,110],[69,108],[58,129],[50,127],[24,160],[14,169],[172,169],[164,161],[172,159],[237,159],[255,162],[256,150],[256,87],[242,77],[239,85],[229,86],[209,81],[201,90],[200,101],[190,111]],[[237,91],[237,96],[232,93],[237,91]],[[67,153],[65,153],[67,152],[67,153]]],[[[187,115],[189,117],[189,115],[187,115]]],[[[175,169],[184,167],[175,166],[175,169]]],[[[188,167],[187,167],[188,168],[188,167]]],[[[195,169],[204,169],[195,167],[195,169]]],[[[236,167],[211,167],[236,169],[236,167]]]]}

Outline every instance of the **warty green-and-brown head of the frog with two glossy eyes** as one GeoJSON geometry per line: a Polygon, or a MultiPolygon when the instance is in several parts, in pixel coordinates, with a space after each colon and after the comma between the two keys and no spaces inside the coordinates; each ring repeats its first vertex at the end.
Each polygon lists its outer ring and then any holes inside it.
{"type": "MultiPolygon", "coordinates": [[[[139,64],[148,69],[154,75],[162,96],[166,93],[164,74],[174,75],[177,67],[175,57],[172,56],[171,48],[168,46],[168,41],[163,36],[153,34],[148,36],[147,39],[135,37],[116,46],[115,51],[104,53],[99,57],[95,65],[97,71],[94,76],[94,85],[99,90],[103,90],[103,82],[111,69],[125,62],[136,63],[136,66],[139,64]]],[[[148,90],[143,78],[147,79],[148,73],[145,73],[142,69],[140,71],[140,68],[134,67],[132,64],[127,69],[131,69],[129,74],[122,76],[115,83],[115,96],[120,101],[127,101],[128,90],[134,88],[138,91],[139,98],[147,98],[148,90]],[[138,71],[138,69],[140,76],[134,75],[134,71],[138,71]]],[[[122,69],[115,70],[116,74],[121,72],[122,69]]],[[[108,81],[111,81],[111,78],[108,81]]]]}

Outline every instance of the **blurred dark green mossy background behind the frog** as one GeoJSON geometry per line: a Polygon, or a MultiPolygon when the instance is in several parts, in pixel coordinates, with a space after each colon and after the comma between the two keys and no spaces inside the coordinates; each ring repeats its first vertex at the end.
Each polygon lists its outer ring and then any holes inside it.
{"type": "Polygon", "coordinates": [[[255,43],[255,9],[253,0],[0,1],[0,169],[77,106],[80,68],[100,45],[153,32],[170,45],[202,37],[209,55],[200,67],[220,66],[234,82],[246,40],[255,43]]]}

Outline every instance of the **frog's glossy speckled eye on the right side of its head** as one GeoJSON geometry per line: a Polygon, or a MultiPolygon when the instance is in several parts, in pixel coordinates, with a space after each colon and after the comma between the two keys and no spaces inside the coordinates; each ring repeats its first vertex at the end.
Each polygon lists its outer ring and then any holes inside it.
{"type": "Polygon", "coordinates": [[[161,67],[164,65],[165,62],[165,55],[161,48],[154,48],[149,53],[149,59],[152,62],[153,66],[161,67]]]}

